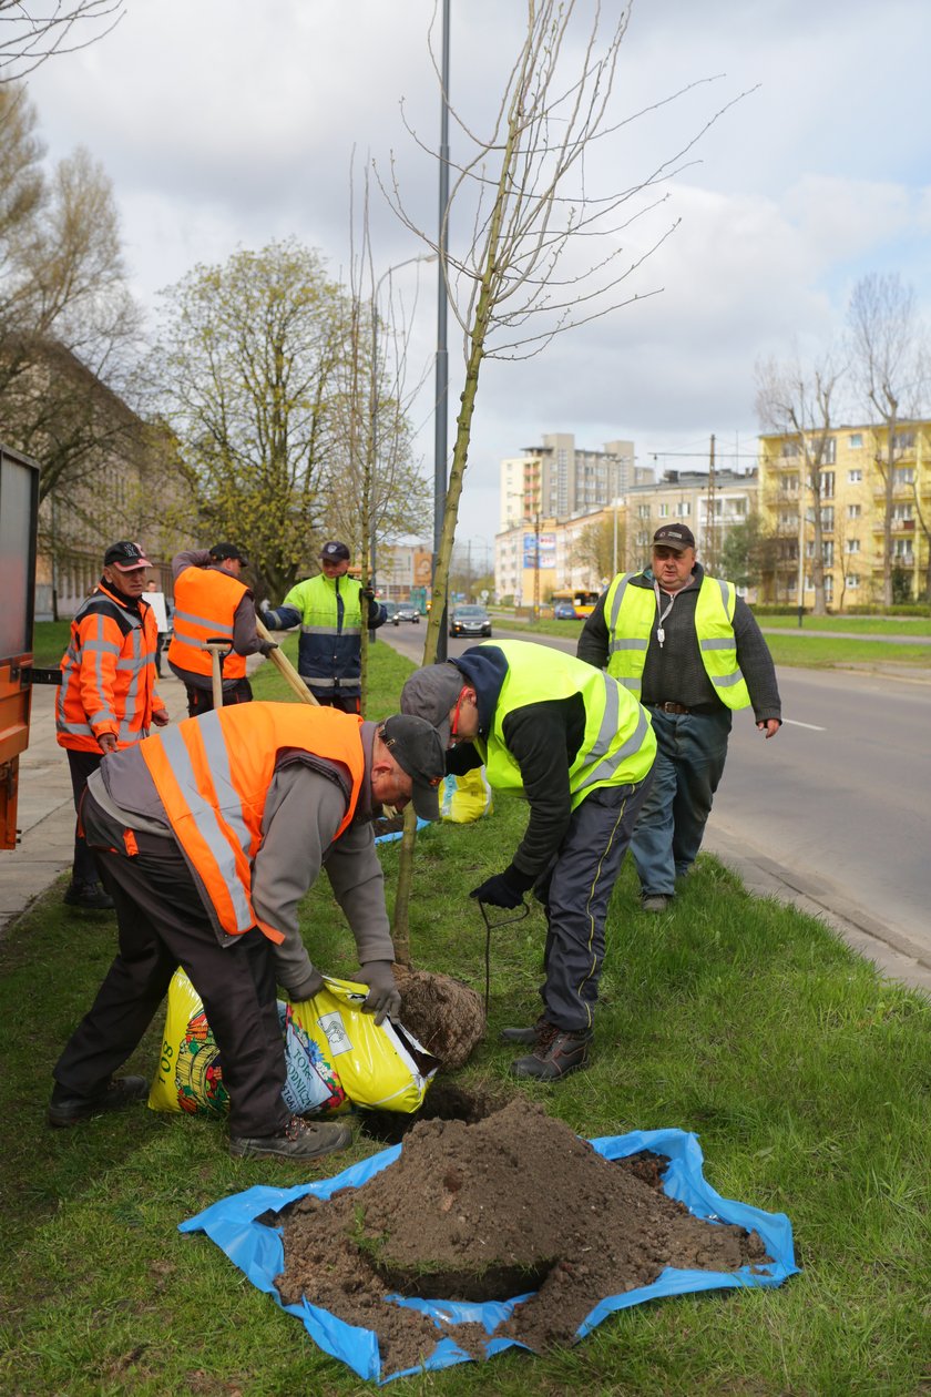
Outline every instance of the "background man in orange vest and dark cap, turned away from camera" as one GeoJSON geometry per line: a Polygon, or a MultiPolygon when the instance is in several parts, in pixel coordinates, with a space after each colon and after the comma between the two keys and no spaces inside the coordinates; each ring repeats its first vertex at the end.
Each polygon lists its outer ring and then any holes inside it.
{"type": "Polygon", "coordinates": [[[222,659],[223,704],[248,703],[253,687],[246,678],[246,657],[275,650],[255,630],[255,601],[240,580],[248,559],[236,543],[214,543],[211,549],[176,553],[174,620],[167,662],[187,689],[191,718],[214,707],[214,661],[204,643],[225,640],[222,659]]]}

